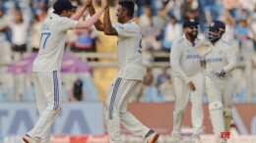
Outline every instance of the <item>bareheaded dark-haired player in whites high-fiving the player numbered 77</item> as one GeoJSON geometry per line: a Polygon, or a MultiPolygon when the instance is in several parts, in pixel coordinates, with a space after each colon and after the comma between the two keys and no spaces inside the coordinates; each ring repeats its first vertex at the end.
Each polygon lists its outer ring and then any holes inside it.
{"type": "MultiPolygon", "coordinates": [[[[133,19],[134,7],[134,2],[130,0],[120,1],[116,12],[118,24],[112,26],[109,7],[105,10],[103,24],[100,21],[95,24],[96,29],[104,31],[106,35],[118,36],[119,70],[110,86],[104,110],[110,143],[122,143],[120,124],[147,143],[155,143],[160,136],[127,112],[129,99],[142,84],[145,73],[142,64],[142,33],[133,19]]],[[[90,13],[94,14],[93,6],[90,7],[90,13]]]]}

